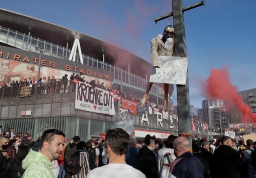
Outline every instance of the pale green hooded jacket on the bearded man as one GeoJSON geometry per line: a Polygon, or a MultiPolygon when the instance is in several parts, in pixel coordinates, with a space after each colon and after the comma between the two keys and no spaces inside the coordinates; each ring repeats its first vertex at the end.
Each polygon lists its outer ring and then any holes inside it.
{"type": "Polygon", "coordinates": [[[30,150],[22,161],[22,168],[26,169],[22,178],[55,178],[52,163],[40,152],[30,150]]]}

